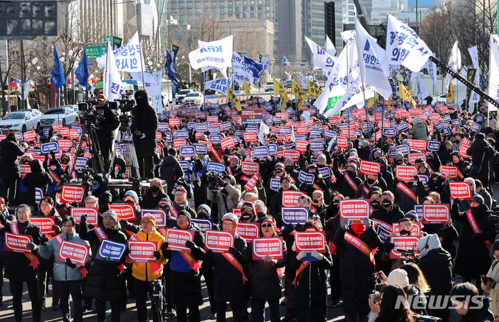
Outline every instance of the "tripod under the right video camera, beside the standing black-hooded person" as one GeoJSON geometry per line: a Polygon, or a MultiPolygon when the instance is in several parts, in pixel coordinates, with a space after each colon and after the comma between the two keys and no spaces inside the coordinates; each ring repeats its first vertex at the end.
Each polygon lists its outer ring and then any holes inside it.
{"type": "Polygon", "coordinates": [[[139,177],[139,161],[137,160],[137,152],[135,152],[135,145],[133,145],[132,132],[130,130],[130,125],[128,125],[128,120],[130,116],[121,113],[119,116],[119,133],[115,140],[115,149],[112,152],[111,163],[109,165],[109,170],[107,178],[109,179],[113,165],[115,163],[116,154],[118,151],[118,143],[123,142],[123,156],[125,159],[126,169],[130,170],[130,177],[139,177]]]}

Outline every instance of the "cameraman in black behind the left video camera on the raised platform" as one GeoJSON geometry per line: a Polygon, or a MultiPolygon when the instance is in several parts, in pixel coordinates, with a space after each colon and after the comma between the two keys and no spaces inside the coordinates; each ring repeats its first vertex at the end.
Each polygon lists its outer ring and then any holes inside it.
{"type": "Polygon", "coordinates": [[[112,140],[114,131],[119,127],[119,120],[109,107],[109,102],[104,94],[97,96],[97,109],[103,115],[97,118],[96,134],[101,147],[103,171],[109,168],[111,161],[112,140]]]}

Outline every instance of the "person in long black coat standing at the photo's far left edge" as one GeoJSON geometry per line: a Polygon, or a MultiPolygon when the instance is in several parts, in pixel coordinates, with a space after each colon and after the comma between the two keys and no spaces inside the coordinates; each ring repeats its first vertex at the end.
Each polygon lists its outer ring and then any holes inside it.
{"type": "Polygon", "coordinates": [[[17,180],[21,177],[17,156],[22,156],[24,151],[17,143],[14,132],[7,134],[5,140],[0,141],[0,179],[2,181],[2,197],[9,206],[15,205],[17,180]]]}

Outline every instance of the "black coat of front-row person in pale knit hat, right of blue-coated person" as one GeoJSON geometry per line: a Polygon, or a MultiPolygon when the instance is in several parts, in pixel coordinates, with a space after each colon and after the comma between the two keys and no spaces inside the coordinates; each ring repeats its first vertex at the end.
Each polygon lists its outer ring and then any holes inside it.
{"type": "MultiPolygon", "coordinates": [[[[235,258],[244,267],[251,258],[251,248],[239,235],[235,235],[234,247],[239,251],[235,258]]],[[[221,253],[212,253],[212,256],[209,253],[206,254],[206,258],[213,267],[213,300],[215,302],[242,302],[244,284],[239,270],[230,264],[221,253]]]]}

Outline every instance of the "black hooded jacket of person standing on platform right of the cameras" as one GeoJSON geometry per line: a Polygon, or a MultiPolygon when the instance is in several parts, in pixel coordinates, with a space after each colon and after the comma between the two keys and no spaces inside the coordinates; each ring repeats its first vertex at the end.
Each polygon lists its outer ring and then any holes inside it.
{"type": "Polygon", "coordinates": [[[154,156],[156,148],[156,130],[158,129],[158,116],[156,111],[147,103],[147,92],[137,91],[135,97],[142,96],[146,103],[139,103],[133,107],[132,116],[132,133],[133,143],[137,156],[154,156]],[[140,138],[141,135],[135,135],[136,131],[146,134],[145,138],[140,138]]]}

